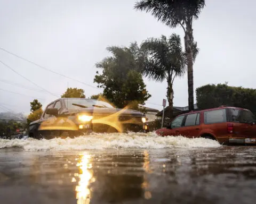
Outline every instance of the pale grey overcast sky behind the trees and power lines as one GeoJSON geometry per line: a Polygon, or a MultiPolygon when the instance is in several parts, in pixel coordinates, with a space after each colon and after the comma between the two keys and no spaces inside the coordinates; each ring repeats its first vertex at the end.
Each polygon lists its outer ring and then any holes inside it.
{"type": "MultiPolygon", "coordinates": [[[[148,37],[169,36],[171,29],[149,13],[135,11],[134,0],[0,0],[0,47],[55,72],[92,86],[95,63],[108,56],[107,46],[139,44],[148,37]]],[[[256,88],[255,6],[252,0],[208,0],[194,22],[194,38],[200,53],[194,64],[194,89],[208,83],[256,88]]],[[[85,90],[86,96],[101,90],[45,71],[0,50],[0,60],[24,77],[54,94],[67,86],[85,90]]],[[[145,80],[152,95],[149,103],[162,104],[166,82],[145,80]]],[[[29,113],[34,98],[47,105],[57,97],[0,63],[0,112],[6,108],[29,113]],[[12,83],[12,84],[10,84],[12,83]],[[17,84],[22,84],[21,88],[17,84]],[[15,85],[15,86],[14,86],[15,85]],[[9,92],[7,92],[9,91],[9,92]],[[12,91],[12,92],[10,92],[12,91]],[[14,94],[18,93],[18,94],[14,94]]],[[[174,81],[174,106],[188,105],[187,75],[174,81]]],[[[196,99],[196,97],[195,97],[196,99]]],[[[147,103],[148,107],[161,106],[147,103]]]]}

